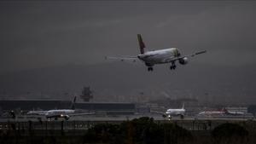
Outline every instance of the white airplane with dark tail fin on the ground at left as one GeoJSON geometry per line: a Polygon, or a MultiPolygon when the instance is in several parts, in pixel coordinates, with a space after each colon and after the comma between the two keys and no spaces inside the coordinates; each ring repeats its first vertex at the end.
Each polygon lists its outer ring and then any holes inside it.
{"type": "Polygon", "coordinates": [[[74,109],[75,101],[76,101],[76,97],[74,97],[73,103],[70,109],[56,109],[56,110],[49,110],[49,111],[29,111],[26,114],[41,115],[41,116],[45,116],[45,118],[47,119],[55,118],[55,120],[57,120],[58,118],[65,118],[66,120],[68,120],[70,117],[74,117],[74,116],[95,114],[95,112],[77,112],[74,109]]]}

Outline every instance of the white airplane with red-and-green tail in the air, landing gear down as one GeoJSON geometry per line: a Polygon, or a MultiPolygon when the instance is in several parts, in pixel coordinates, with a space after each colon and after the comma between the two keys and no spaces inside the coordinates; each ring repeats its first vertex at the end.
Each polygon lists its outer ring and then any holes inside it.
{"type": "Polygon", "coordinates": [[[168,49],[158,49],[146,51],[146,45],[143,42],[143,37],[141,34],[137,34],[137,40],[139,43],[140,53],[137,56],[125,56],[125,57],[111,57],[106,56],[106,59],[109,60],[142,60],[146,66],[148,66],[148,71],[153,71],[153,66],[156,64],[166,64],[171,63],[170,69],[175,70],[176,64],[178,61],[181,65],[186,65],[189,62],[189,57],[194,57],[195,55],[200,55],[206,53],[206,50],[196,52],[192,55],[181,55],[180,51],[177,48],[168,48],[168,49]]]}

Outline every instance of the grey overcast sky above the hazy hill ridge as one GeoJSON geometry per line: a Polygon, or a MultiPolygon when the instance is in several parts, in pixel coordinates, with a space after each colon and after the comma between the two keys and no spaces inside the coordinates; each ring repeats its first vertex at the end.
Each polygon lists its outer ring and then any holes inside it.
{"type": "Polygon", "coordinates": [[[207,49],[195,63],[256,64],[255,2],[0,2],[0,73],[104,63],[149,49],[207,49]]]}

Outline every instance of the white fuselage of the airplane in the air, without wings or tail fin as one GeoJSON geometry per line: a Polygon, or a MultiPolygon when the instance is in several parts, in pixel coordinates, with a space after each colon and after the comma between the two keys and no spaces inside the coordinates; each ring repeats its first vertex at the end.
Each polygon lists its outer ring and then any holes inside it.
{"type": "Polygon", "coordinates": [[[180,53],[176,48],[148,51],[144,54],[137,55],[138,59],[151,65],[163,64],[166,63],[166,60],[172,60],[178,56],[180,56],[180,53]]]}

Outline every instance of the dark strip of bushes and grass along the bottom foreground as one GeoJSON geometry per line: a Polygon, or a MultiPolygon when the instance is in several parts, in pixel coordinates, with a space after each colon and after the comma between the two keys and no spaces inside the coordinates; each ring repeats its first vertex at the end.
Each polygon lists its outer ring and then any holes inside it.
{"type": "Polygon", "coordinates": [[[96,124],[88,130],[0,130],[1,144],[254,144],[254,122],[220,124],[213,130],[185,130],[175,123],[138,118],[96,124]],[[39,134],[39,135],[38,135],[39,134]]]}

